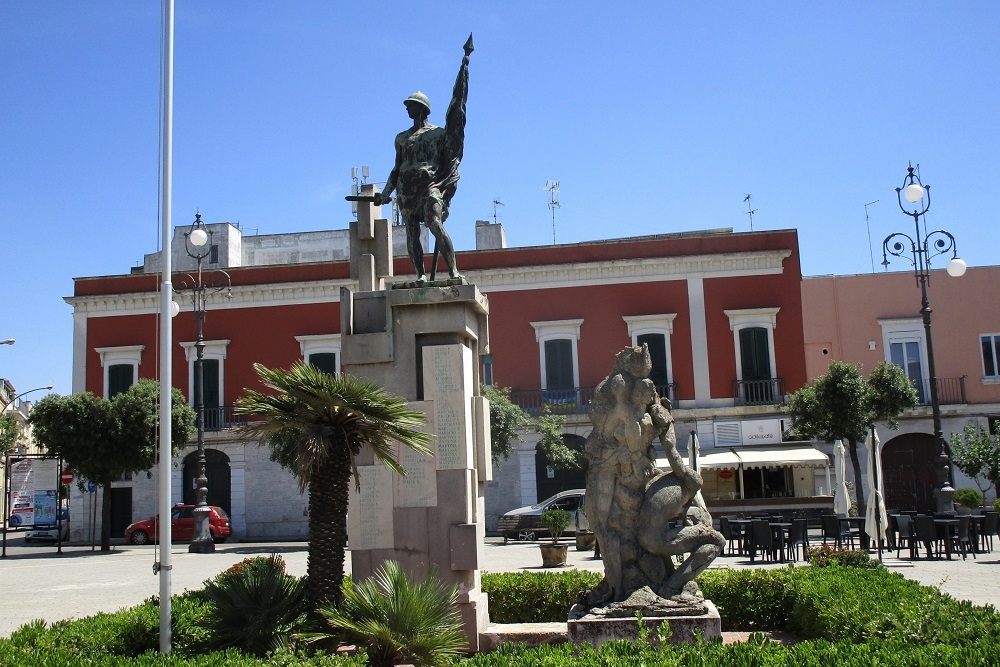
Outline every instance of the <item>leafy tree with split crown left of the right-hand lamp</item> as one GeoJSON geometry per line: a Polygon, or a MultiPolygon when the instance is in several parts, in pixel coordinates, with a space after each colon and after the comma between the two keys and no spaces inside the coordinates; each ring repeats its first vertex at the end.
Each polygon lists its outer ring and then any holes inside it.
{"type": "MultiPolygon", "coordinates": [[[[795,432],[825,442],[846,440],[855,482],[861,479],[858,442],[875,422],[899,427],[899,415],[917,405],[917,390],[902,368],[880,361],[868,378],[861,366],[832,361],[826,373],[789,398],[795,432]]],[[[865,512],[864,490],[854,485],[858,513],[865,512]]]]}

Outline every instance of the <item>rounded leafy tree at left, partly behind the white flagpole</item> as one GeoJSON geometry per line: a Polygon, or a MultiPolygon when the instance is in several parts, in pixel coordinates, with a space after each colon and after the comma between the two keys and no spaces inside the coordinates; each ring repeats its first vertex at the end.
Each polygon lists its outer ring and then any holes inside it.
{"type": "MultiPolygon", "coordinates": [[[[49,454],[102,488],[101,551],[111,550],[111,483],[156,464],[160,385],[143,379],[108,400],[90,392],[38,401],[29,422],[49,454]]],[[[171,450],[178,454],[194,431],[195,411],[171,391],[171,450]]]]}

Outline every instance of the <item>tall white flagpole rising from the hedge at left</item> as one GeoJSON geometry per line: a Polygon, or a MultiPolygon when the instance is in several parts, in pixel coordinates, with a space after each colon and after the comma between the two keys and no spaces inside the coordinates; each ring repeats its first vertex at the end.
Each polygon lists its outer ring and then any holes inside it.
{"type": "Polygon", "coordinates": [[[174,0],[163,2],[163,172],[161,206],[163,238],[160,254],[163,282],[160,285],[160,468],[159,468],[159,512],[160,512],[160,653],[170,653],[170,390],[173,386],[173,366],[171,345],[173,343],[173,322],[170,303],[173,300],[173,284],[170,262],[173,197],[171,176],[173,170],[173,107],[174,107],[174,0]]]}

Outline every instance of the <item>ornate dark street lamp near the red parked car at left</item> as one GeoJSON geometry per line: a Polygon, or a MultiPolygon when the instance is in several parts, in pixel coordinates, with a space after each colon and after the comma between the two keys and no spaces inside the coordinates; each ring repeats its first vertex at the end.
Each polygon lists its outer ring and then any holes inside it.
{"type": "Polygon", "coordinates": [[[225,271],[213,271],[208,276],[202,274],[201,263],[212,251],[211,241],[212,231],[205,228],[201,221],[201,213],[196,213],[191,230],[184,233],[184,250],[198,262],[198,268],[194,276],[188,274],[178,280],[175,288],[177,292],[190,291],[192,310],[198,325],[194,362],[194,402],[198,413],[198,477],[195,483],[198,486],[195,490],[194,534],[188,552],[199,554],[215,551],[215,540],[212,539],[212,532],[208,527],[211,510],[208,507],[208,477],[205,474],[205,383],[202,375],[205,355],[205,309],[212,294],[232,288],[232,281],[225,271]]]}

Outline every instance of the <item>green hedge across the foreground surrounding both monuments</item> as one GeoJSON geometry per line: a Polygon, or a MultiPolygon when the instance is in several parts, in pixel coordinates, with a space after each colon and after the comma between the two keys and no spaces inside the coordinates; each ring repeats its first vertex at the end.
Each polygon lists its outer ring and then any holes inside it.
{"type": "MultiPolygon", "coordinates": [[[[596,586],[600,574],[484,574],[493,622],[565,620],[580,593],[596,586]]],[[[766,642],[723,646],[663,647],[610,642],[593,651],[571,645],[523,649],[504,646],[456,664],[493,665],[998,665],[1000,614],[992,607],[957,601],[934,588],[882,569],[843,566],[777,570],[715,570],[699,582],[718,606],[726,630],[787,629],[803,642],[792,647],[766,642]]],[[[191,665],[193,667],[306,665],[345,667],[363,657],[306,656],[286,650],[266,659],[238,652],[185,656],[203,643],[207,605],[198,594],[175,598],[174,646],[170,656],[155,653],[159,610],[155,600],[115,614],[26,625],[0,639],[0,665],[191,665]]]]}

